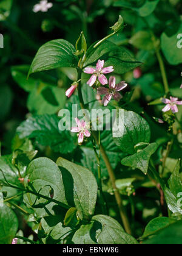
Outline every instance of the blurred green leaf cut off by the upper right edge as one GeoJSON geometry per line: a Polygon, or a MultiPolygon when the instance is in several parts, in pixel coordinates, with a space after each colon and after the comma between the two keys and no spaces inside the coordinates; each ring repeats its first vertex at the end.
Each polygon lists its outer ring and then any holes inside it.
{"type": "Polygon", "coordinates": [[[182,51],[181,48],[178,47],[178,44],[180,44],[180,38],[177,38],[178,35],[181,34],[181,30],[182,23],[173,23],[161,35],[161,48],[167,62],[171,65],[178,65],[182,63],[182,51]]]}

